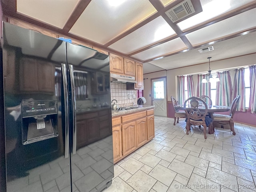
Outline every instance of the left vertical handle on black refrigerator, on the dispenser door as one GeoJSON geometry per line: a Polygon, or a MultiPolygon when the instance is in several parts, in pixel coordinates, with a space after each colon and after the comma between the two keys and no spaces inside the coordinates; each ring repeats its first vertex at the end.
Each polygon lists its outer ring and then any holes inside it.
{"type": "Polygon", "coordinates": [[[62,80],[64,86],[64,106],[65,106],[65,149],[64,149],[64,157],[68,158],[69,154],[69,132],[68,132],[68,78],[67,78],[67,68],[66,64],[61,64],[62,69],[62,80]]]}

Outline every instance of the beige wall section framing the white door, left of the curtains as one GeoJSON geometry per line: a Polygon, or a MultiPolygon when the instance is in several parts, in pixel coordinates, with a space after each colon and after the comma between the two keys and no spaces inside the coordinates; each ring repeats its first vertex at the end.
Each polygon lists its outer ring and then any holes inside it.
{"type": "MultiPolygon", "coordinates": [[[[152,105],[151,79],[158,78],[158,77],[166,77],[166,70],[143,75],[143,78],[144,78],[143,96],[147,101],[146,105],[152,105]],[[149,96],[150,94],[151,94],[151,97],[149,96]]],[[[168,86],[168,83],[167,83],[167,86],[168,86]]]]}

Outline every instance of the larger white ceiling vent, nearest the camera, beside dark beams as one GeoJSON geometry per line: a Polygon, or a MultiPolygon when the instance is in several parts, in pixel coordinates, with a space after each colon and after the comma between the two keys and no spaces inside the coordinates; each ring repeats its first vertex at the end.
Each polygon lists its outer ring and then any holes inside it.
{"type": "Polygon", "coordinates": [[[182,1],[180,4],[174,6],[165,12],[165,14],[170,18],[174,23],[192,13],[195,12],[195,9],[191,3],[191,0],[182,1]]]}

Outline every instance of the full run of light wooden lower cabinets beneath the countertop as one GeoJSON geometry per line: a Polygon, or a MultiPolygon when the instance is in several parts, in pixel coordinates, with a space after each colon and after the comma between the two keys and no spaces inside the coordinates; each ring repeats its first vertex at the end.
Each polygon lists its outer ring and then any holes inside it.
{"type": "Polygon", "coordinates": [[[112,118],[114,163],[155,136],[154,109],[112,118]]]}

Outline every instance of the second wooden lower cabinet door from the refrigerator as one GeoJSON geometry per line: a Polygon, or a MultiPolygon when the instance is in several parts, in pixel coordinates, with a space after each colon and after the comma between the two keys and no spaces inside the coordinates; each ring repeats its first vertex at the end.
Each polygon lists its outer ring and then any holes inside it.
{"type": "Polygon", "coordinates": [[[136,149],[136,122],[122,125],[123,155],[136,149]]]}

